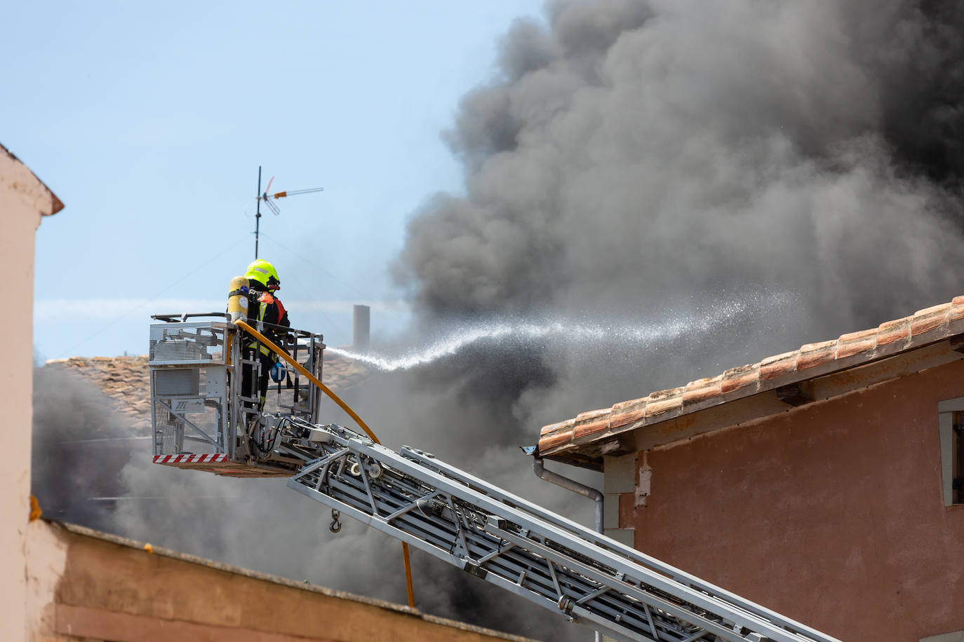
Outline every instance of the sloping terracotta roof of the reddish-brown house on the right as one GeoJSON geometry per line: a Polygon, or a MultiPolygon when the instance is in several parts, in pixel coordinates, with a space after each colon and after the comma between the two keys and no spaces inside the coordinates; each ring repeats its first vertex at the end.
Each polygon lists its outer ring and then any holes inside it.
{"type": "MultiPolygon", "coordinates": [[[[950,356],[944,357],[945,361],[960,358],[962,355],[953,350],[964,349],[962,334],[964,296],[956,296],[949,303],[919,310],[903,319],[885,321],[875,328],[844,334],[833,341],[807,344],[758,363],[695,379],[678,388],[660,390],[647,397],[622,401],[543,426],[538,452],[543,457],[599,468],[604,454],[624,454],[638,449],[625,439],[629,431],[762,393],[770,393],[774,400],[779,398],[784,402],[779,407],[786,410],[786,404],[795,406],[814,400],[813,394],[808,394],[801,384],[817,377],[851,371],[938,342],[947,344],[942,354],[950,356]]],[[[843,389],[837,394],[841,392],[843,389]]],[[[774,406],[766,407],[772,411],[774,406]]],[[[662,439],[663,443],[669,443],[684,436],[666,434],[662,439]]]]}

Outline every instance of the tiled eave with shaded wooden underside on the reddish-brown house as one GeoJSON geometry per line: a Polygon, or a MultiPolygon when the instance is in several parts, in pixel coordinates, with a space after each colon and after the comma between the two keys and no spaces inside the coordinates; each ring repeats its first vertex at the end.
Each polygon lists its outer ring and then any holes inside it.
{"type": "Polygon", "coordinates": [[[761,419],[814,400],[808,398],[801,386],[813,388],[815,382],[820,381],[826,391],[839,396],[847,390],[845,386],[829,385],[835,375],[863,369],[861,377],[851,378],[863,381],[858,387],[864,387],[872,385],[870,381],[878,383],[876,379],[880,376],[885,377],[882,380],[899,376],[904,371],[901,363],[922,370],[959,359],[962,355],[957,350],[964,349],[962,345],[964,296],[958,296],[951,303],[882,323],[873,331],[844,335],[835,342],[807,345],[769,357],[759,364],[731,369],[681,388],[659,391],[647,398],[624,401],[608,409],[547,425],[540,435],[539,455],[566,463],[578,458],[598,466],[606,454],[652,448],[691,433],[725,427],[706,421],[705,411],[712,408],[755,399],[755,402],[740,403],[742,412],[733,413],[734,419],[736,421],[737,415],[741,422],[761,419]],[[827,358],[830,349],[833,356],[827,358]],[[898,358],[901,355],[903,359],[898,358]],[[880,366],[876,369],[879,372],[874,371],[875,364],[880,366]],[[699,428],[702,424],[710,427],[702,430],[699,428]]]}

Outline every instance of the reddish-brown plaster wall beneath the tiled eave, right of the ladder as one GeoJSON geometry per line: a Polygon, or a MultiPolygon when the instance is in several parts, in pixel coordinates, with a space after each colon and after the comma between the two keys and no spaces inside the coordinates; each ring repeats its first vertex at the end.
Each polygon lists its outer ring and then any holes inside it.
{"type": "MultiPolygon", "coordinates": [[[[646,452],[635,548],[842,640],[964,629],[964,505],[945,506],[938,402],[964,362],[646,452]]],[[[637,478],[644,457],[636,457],[637,478]]]]}

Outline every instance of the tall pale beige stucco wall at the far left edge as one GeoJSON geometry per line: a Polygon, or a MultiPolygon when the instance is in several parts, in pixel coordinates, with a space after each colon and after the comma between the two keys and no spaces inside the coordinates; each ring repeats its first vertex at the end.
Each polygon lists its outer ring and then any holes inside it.
{"type": "Polygon", "coordinates": [[[43,215],[63,207],[40,180],[0,146],[0,256],[4,297],[16,314],[0,318],[7,357],[0,389],[9,399],[2,421],[0,467],[0,638],[20,639],[25,627],[25,531],[30,506],[30,433],[33,420],[34,233],[43,215]],[[25,313],[23,311],[30,311],[25,313]]]}

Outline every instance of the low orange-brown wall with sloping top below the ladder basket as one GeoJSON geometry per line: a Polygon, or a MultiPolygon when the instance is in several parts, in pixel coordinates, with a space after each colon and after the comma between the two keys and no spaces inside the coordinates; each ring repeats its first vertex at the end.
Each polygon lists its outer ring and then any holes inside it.
{"type": "Polygon", "coordinates": [[[33,522],[28,551],[32,642],[534,642],[80,526],[33,522]]]}

